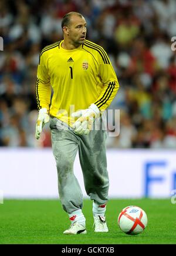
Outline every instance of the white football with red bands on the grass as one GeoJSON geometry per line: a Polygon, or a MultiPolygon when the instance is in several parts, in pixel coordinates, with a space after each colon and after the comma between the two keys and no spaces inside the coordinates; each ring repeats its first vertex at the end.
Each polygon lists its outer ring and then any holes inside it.
{"type": "Polygon", "coordinates": [[[143,232],[147,226],[147,214],[135,205],[124,208],[118,217],[118,224],[127,235],[137,235],[143,232]]]}

